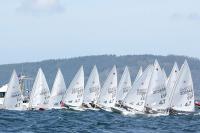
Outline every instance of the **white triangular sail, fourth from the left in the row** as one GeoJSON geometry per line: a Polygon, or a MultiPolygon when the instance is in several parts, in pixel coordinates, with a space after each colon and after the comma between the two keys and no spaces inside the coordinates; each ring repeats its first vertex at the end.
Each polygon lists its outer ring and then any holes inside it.
{"type": "Polygon", "coordinates": [[[83,103],[84,94],[84,71],[83,66],[79,69],[69,88],[67,89],[62,102],[68,106],[80,107],[83,103]]]}

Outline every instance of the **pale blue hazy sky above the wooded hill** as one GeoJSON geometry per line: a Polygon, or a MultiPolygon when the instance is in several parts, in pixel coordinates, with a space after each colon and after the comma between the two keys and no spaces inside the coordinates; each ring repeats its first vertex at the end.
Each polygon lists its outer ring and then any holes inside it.
{"type": "Polygon", "coordinates": [[[0,64],[98,54],[200,58],[199,0],[0,0],[0,64]]]}

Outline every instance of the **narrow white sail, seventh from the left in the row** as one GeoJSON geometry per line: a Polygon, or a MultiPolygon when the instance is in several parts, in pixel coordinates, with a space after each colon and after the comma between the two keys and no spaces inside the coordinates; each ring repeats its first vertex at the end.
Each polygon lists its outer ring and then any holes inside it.
{"type": "Polygon", "coordinates": [[[117,89],[116,102],[123,101],[131,87],[131,76],[128,67],[126,66],[117,89]]]}

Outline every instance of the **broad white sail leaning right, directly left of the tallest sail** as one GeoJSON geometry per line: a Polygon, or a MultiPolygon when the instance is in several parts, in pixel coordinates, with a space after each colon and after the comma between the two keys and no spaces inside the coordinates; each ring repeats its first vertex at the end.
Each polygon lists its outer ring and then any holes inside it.
{"type": "Polygon", "coordinates": [[[153,72],[153,65],[149,65],[138,80],[135,80],[133,86],[124,99],[124,105],[143,112],[145,106],[145,98],[149,87],[149,82],[153,72]]]}

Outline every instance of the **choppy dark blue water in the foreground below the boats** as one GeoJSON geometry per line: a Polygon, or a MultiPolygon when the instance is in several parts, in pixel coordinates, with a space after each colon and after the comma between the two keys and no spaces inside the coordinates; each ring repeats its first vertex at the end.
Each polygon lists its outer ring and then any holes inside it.
{"type": "Polygon", "coordinates": [[[198,113],[177,116],[123,116],[104,111],[0,111],[0,132],[19,133],[188,133],[200,132],[198,113]]]}

